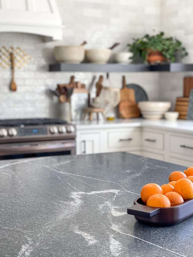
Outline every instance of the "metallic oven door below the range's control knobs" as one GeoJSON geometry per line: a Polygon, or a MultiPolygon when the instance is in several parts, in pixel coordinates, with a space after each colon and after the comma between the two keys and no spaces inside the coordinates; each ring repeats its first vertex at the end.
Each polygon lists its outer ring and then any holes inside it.
{"type": "Polygon", "coordinates": [[[75,140],[0,144],[0,160],[76,154],[75,140]]]}

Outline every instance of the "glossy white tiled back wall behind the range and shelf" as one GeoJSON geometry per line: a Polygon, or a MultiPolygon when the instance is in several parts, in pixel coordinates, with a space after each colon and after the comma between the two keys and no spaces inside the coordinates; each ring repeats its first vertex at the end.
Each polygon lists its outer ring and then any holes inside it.
{"type": "MultiPolygon", "coordinates": [[[[175,1],[172,2],[174,10],[178,10],[175,1]]],[[[21,47],[33,58],[27,66],[16,70],[16,92],[9,90],[10,69],[0,68],[0,118],[63,116],[57,97],[50,95],[47,89],[55,89],[56,84],[68,82],[71,75],[75,75],[77,80],[89,87],[93,76],[98,78],[100,73],[48,72],[48,64],[54,62],[53,47],[80,44],[87,40],[86,48],[107,48],[114,42],[121,42],[114,51],[123,50],[133,37],[151,33],[153,29],[159,31],[161,11],[166,8],[160,0],[57,0],[57,3],[66,26],[63,42],[44,43],[41,36],[30,34],[0,34],[0,46],[21,47]]],[[[114,86],[121,87],[121,75],[123,74],[110,74],[114,86]]],[[[150,100],[161,97],[159,73],[124,75],[128,83],[141,85],[150,100]]]]}

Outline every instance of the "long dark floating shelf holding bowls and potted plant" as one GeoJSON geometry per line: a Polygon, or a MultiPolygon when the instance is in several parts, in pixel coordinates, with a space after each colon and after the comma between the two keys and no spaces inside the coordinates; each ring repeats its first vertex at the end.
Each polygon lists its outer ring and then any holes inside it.
{"type": "Polygon", "coordinates": [[[144,71],[169,71],[183,72],[193,71],[193,64],[187,63],[168,63],[160,65],[147,64],[93,64],[93,63],[56,63],[49,65],[49,71],[82,71],[82,72],[144,72],[144,71]]]}

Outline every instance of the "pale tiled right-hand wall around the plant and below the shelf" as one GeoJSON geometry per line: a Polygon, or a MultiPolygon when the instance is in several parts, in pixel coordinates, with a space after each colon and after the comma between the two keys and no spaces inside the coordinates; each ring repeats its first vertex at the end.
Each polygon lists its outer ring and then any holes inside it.
{"type": "MultiPolygon", "coordinates": [[[[183,42],[189,55],[183,62],[193,62],[193,1],[161,0],[161,30],[183,42]]],[[[183,77],[193,72],[160,73],[160,100],[169,100],[174,109],[176,97],[183,96],[183,77]]]]}

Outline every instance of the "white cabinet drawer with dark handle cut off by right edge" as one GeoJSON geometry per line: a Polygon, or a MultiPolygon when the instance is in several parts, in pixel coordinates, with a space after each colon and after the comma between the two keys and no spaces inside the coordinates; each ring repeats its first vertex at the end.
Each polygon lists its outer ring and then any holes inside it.
{"type": "Polygon", "coordinates": [[[193,156],[193,137],[171,135],[170,152],[193,156]]]}

